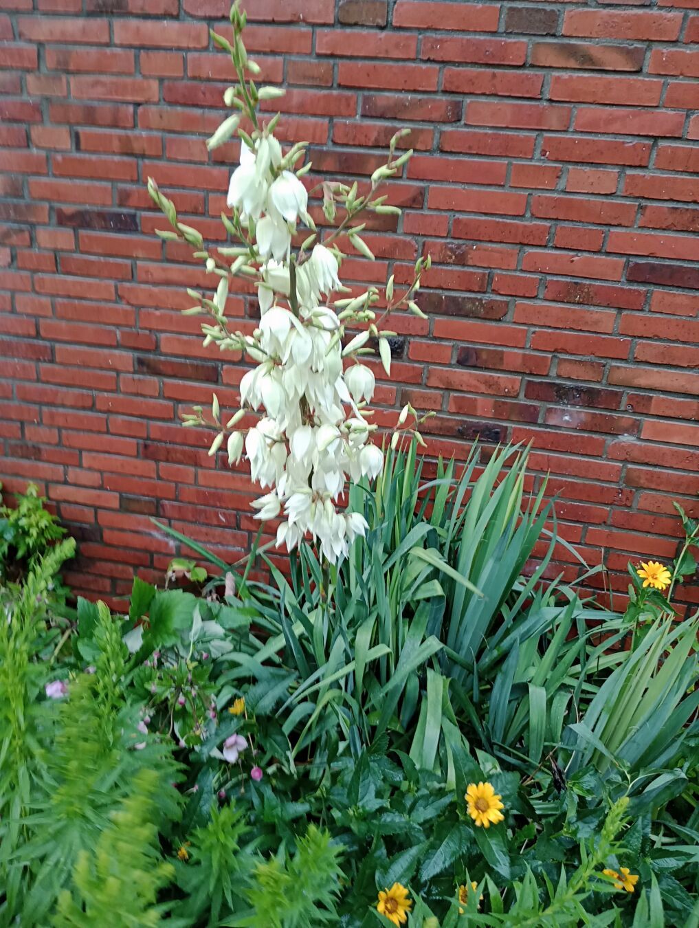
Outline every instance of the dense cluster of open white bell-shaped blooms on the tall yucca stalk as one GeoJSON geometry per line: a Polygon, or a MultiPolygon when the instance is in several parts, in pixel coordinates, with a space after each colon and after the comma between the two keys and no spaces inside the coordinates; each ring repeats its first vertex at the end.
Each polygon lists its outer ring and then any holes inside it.
{"type": "Polygon", "coordinates": [[[255,518],[282,518],[278,545],[291,550],[310,535],[336,563],[368,528],[359,514],[337,509],[347,478],[371,479],[383,465],[356,406],[370,401],[374,375],[363,365],[343,372],[342,324],[320,303],[342,286],[330,248],[316,244],[296,264],[291,300],[291,238],[299,221],[313,226],[304,184],[283,169],[273,135],[259,137],[254,149],[242,144],[227,202],[247,223],[259,264],[260,322],[244,338],[257,365],[240,381],[240,401],[263,417],[244,438],[231,434],[228,461],[238,462],[244,448],[252,480],[268,491],[252,503],[255,518]]]}

